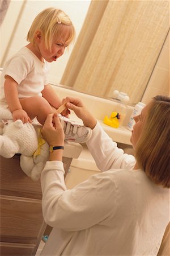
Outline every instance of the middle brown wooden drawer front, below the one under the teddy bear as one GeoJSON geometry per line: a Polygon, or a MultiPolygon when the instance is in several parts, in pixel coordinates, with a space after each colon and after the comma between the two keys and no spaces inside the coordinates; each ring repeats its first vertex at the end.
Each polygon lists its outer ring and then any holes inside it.
{"type": "Polygon", "coordinates": [[[37,243],[45,224],[41,201],[1,196],[1,242],[37,243]]]}

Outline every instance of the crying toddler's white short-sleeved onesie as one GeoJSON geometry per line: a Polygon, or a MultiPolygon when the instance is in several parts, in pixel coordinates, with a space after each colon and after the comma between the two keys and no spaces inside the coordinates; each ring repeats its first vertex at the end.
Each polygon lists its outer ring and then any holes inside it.
{"type": "Polygon", "coordinates": [[[5,64],[1,76],[0,104],[7,108],[5,99],[5,76],[11,76],[18,83],[18,97],[42,96],[44,85],[48,84],[49,63],[42,63],[27,47],[21,48],[5,64]]]}

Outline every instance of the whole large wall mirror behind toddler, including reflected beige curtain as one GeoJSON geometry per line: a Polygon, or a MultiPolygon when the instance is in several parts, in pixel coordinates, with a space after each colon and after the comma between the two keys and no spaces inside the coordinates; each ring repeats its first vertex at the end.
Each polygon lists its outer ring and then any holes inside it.
{"type": "Polygon", "coordinates": [[[74,46],[52,63],[50,82],[99,97],[117,89],[131,104],[141,101],[168,34],[168,1],[11,1],[1,28],[2,67],[27,44],[32,20],[49,6],[64,10],[77,33],[74,46]],[[14,8],[16,22],[9,24],[14,8]]]}

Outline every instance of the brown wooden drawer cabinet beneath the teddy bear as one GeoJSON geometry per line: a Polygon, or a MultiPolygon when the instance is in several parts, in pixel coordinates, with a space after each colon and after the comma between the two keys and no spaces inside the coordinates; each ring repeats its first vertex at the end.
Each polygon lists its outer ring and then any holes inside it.
{"type": "Polygon", "coordinates": [[[1,156],[0,254],[35,255],[46,228],[41,210],[41,184],[19,165],[19,155],[1,156]]]}

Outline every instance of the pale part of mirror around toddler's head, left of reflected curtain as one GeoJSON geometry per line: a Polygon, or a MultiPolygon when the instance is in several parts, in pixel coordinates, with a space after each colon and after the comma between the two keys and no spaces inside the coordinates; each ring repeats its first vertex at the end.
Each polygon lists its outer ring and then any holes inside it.
{"type": "MultiPolygon", "coordinates": [[[[16,53],[20,48],[27,45],[26,40],[27,32],[33,19],[36,15],[48,7],[56,7],[65,11],[70,19],[74,23],[76,30],[76,38],[82,28],[84,19],[90,6],[89,1],[32,1],[32,0],[18,0],[10,1],[5,19],[0,27],[1,35],[1,56],[0,67],[3,68],[5,61],[10,58],[11,55],[16,53]],[[11,22],[12,21],[12,22],[11,22]]],[[[76,39],[75,39],[76,41],[76,39]]],[[[75,43],[75,42],[74,42],[75,43]]],[[[61,81],[64,69],[67,61],[71,55],[71,51],[74,47],[74,43],[71,44],[68,50],[65,51],[57,62],[50,64],[50,82],[53,84],[59,84],[61,81]]]]}

